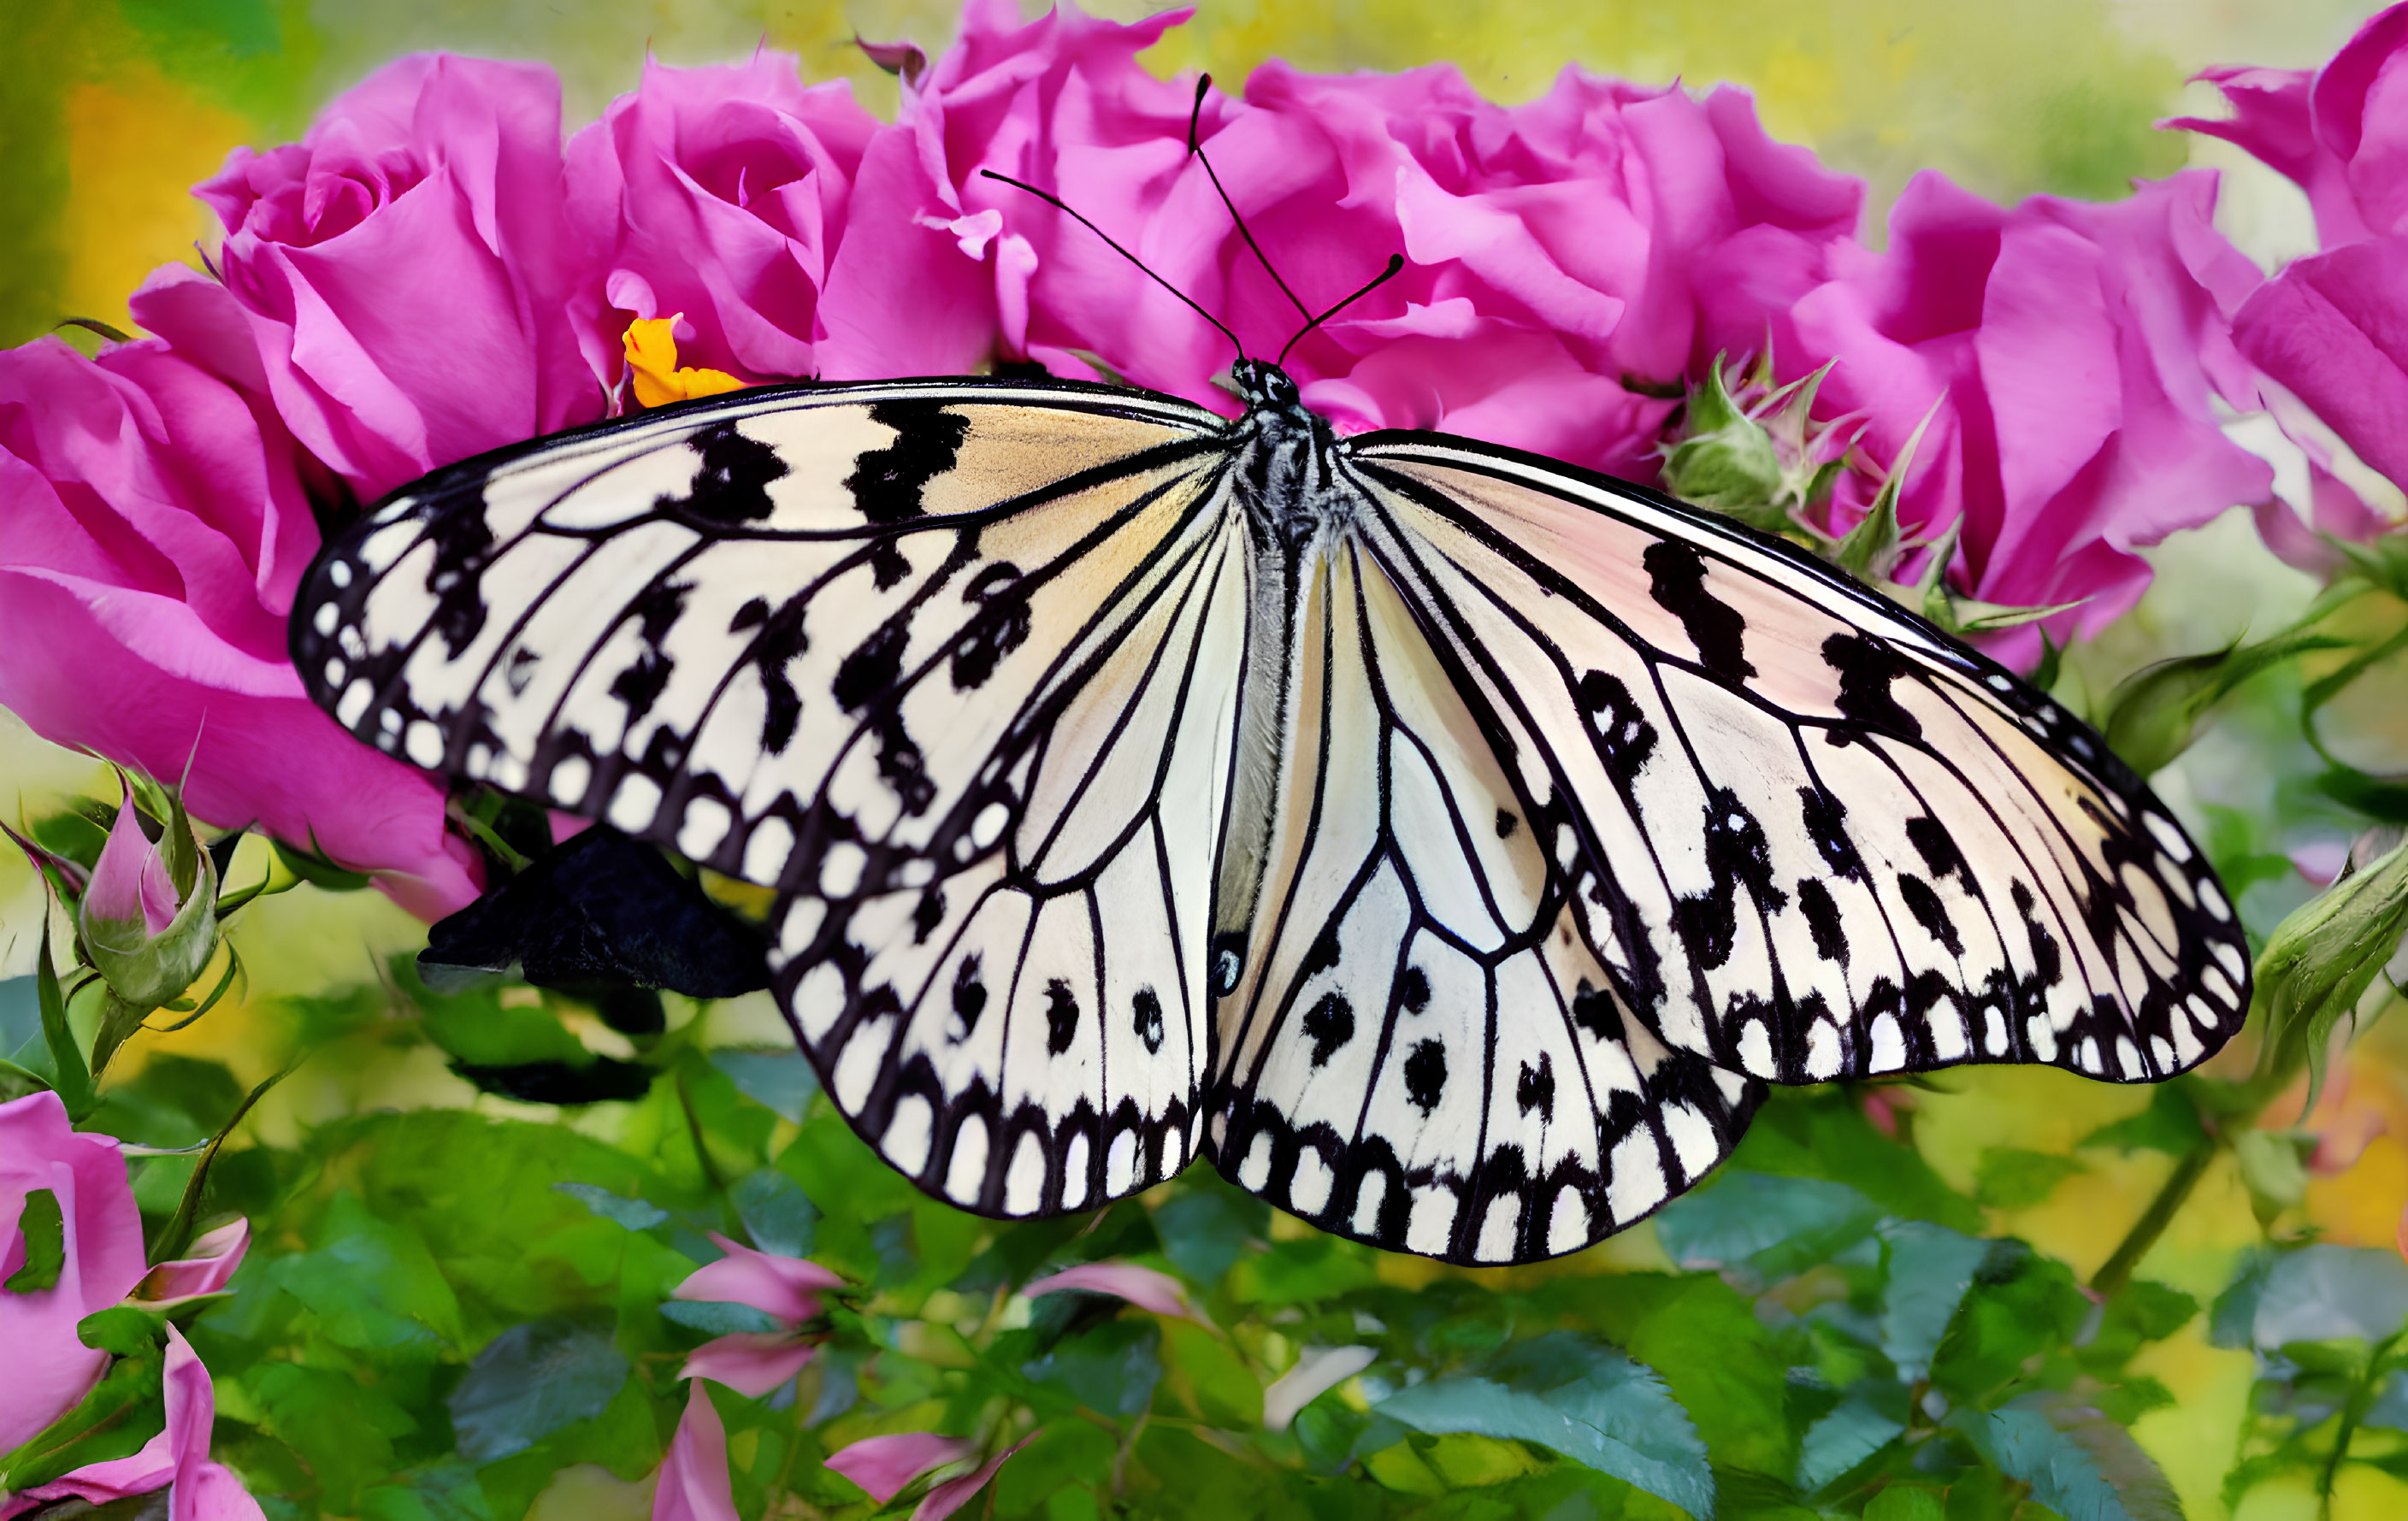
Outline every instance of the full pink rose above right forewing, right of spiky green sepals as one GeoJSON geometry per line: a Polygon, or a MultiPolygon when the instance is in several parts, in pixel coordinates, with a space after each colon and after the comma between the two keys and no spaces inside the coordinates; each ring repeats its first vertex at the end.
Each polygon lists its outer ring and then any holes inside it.
{"type": "MultiPolygon", "coordinates": [[[[2230,313],[2259,272],[2213,212],[2203,171],[2112,205],[2042,195],[2011,209],[1919,173],[1888,253],[1835,250],[1825,282],[1772,306],[1772,351],[1784,380],[1837,361],[1816,412],[1861,416],[1881,464],[1931,414],[1900,520],[1924,537],[1963,522],[1960,590],[2081,599],[2056,628],[2095,631],[2148,585],[2133,546],[2273,489],[2215,416],[2218,402],[2256,407],[2230,313]]],[[[1739,306],[1722,313],[1734,339],[1767,303],[1739,306]]],[[[1871,481],[1849,477],[1835,527],[1869,498],[1871,481]]]]}

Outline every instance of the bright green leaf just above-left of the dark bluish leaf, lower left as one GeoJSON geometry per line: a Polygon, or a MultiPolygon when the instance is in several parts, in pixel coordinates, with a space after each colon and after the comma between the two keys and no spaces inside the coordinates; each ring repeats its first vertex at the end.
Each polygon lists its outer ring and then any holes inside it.
{"type": "Polygon", "coordinates": [[[318,1314],[318,1328],[347,1348],[458,1345],[460,1300],[426,1242],[393,1220],[378,1220],[354,1194],[337,1194],[325,1223],[325,1247],[275,1263],[275,1283],[318,1314]]]}

